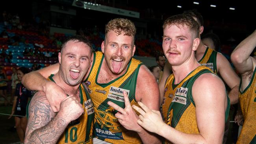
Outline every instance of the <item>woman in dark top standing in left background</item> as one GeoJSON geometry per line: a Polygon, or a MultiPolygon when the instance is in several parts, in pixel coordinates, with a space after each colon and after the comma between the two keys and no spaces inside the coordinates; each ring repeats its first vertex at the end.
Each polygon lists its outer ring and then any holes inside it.
{"type": "MultiPolygon", "coordinates": [[[[20,67],[17,70],[17,77],[18,77],[19,81],[21,81],[24,74],[26,74],[28,72],[29,72],[28,68],[20,67]]],[[[11,116],[13,116],[13,114],[19,115],[19,116],[15,116],[15,127],[16,127],[16,131],[20,138],[20,144],[24,143],[26,126],[27,126],[27,122],[28,122],[27,118],[25,117],[26,107],[27,107],[27,104],[28,104],[28,101],[30,98],[31,98],[31,91],[26,89],[21,84],[21,82],[18,83],[16,85],[13,108],[12,108],[11,115],[9,116],[9,118],[11,118],[11,116]]]]}

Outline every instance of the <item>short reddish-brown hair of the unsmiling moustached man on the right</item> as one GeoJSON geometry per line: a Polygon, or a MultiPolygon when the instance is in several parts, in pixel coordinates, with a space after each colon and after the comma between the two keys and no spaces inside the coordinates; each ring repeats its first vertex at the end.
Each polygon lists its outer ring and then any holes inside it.
{"type": "Polygon", "coordinates": [[[165,29],[167,26],[170,27],[173,25],[176,25],[178,28],[187,27],[189,30],[195,32],[195,38],[199,37],[199,25],[197,21],[191,17],[191,15],[186,15],[183,13],[169,17],[163,22],[163,29],[165,29]]]}

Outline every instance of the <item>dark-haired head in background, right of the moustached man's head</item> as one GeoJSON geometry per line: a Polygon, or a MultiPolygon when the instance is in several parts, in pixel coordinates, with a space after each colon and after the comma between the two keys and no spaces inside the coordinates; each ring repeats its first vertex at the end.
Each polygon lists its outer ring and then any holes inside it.
{"type": "Polygon", "coordinates": [[[221,47],[221,41],[215,33],[206,33],[205,35],[202,35],[202,42],[204,45],[215,51],[219,51],[221,47]]]}

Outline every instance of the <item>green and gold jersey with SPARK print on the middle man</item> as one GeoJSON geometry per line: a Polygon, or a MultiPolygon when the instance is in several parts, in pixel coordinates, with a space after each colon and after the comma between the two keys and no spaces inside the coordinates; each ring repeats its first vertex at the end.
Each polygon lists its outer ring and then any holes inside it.
{"type": "Polygon", "coordinates": [[[128,131],[122,127],[115,117],[117,111],[107,104],[108,101],[111,101],[124,108],[122,92],[125,90],[131,105],[137,105],[135,89],[137,74],[142,63],[132,58],[124,75],[109,83],[97,83],[103,59],[102,52],[94,53],[93,66],[86,79],[89,94],[95,106],[94,137],[114,144],[142,143],[136,132],[128,131]]]}

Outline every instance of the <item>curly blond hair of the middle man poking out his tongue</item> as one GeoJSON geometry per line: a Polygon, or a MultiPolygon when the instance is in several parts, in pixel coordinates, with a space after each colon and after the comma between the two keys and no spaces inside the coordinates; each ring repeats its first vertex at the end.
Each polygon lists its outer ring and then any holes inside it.
{"type": "Polygon", "coordinates": [[[105,37],[107,33],[111,30],[115,31],[117,35],[121,35],[121,33],[124,33],[124,35],[128,35],[133,38],[136,34],[136,28],[134,26],[134,23],[131,20],[124,18],[115,18],[113,20],[110,20],[108,24],[106,24],[105,37]]]}

